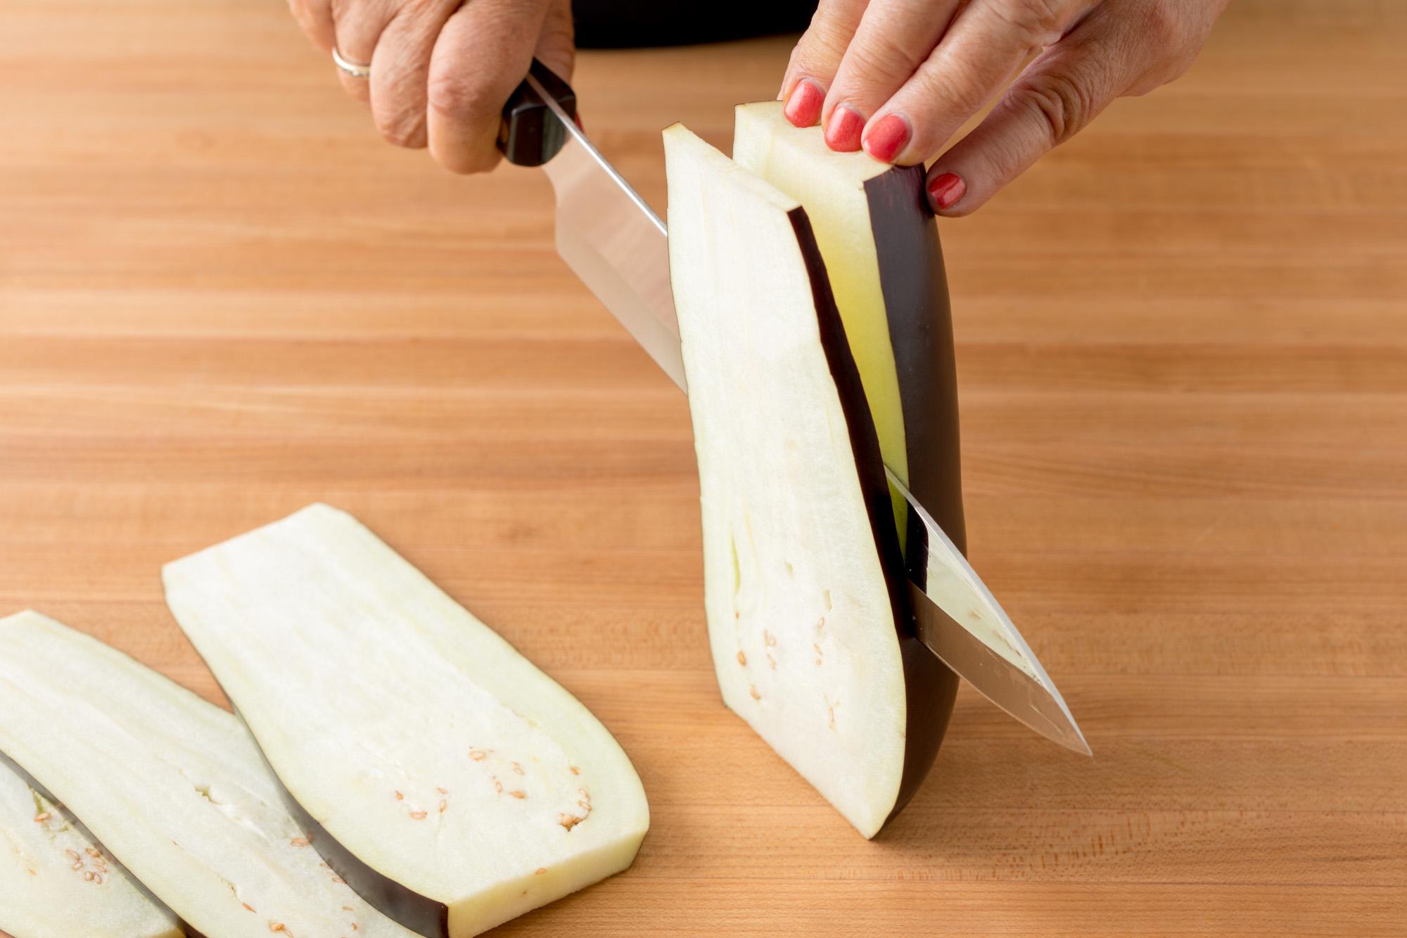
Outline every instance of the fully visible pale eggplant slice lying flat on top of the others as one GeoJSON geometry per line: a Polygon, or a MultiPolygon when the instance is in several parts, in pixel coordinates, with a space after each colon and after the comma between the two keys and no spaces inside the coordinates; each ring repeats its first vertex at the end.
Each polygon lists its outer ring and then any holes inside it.
{"type": "Polygon", "coordinates": [[[388,914],[460,938],[633,861],[649,808],[615,738],[352,515],[310,506],[163,577],[329,862],[388,914]]]}

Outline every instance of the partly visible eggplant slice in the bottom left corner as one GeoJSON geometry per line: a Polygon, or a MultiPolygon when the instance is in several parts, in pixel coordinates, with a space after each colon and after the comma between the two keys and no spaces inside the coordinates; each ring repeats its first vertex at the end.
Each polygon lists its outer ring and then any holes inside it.
{"type": "Polygon", "coordinates": [[[62,804],[0,758],[0,934],[180,938],[174,913],[62,804]]]}

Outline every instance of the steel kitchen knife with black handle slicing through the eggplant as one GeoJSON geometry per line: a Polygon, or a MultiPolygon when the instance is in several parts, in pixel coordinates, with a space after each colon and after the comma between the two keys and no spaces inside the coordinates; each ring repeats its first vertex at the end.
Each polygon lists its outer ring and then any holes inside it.
{"type": "MultiPolygon", "coordinates": [[[[571,87],[533,59],[504,107],[499,149],[519,166],[543,168],[557,201],[557,254],[687,393],[664,223],[591,145],[575,108],[571,87]]],[[[909,503],[909,530],[919,534],[909,544],[919,641],[1036,732],[1090,755],[1064,697],[1010,617],[888,466],[885,475],[909,503]]]]}

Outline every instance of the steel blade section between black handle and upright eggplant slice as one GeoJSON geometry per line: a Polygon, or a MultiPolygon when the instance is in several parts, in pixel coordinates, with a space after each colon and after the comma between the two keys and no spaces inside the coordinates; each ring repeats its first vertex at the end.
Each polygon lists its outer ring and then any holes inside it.
{"type": "Polygon", "coordinates": [[[526,80],[567,128],[567,144],[543,165],[557,196],[557,254],[684,387],[664,223],[537,79],[526,80]]]}

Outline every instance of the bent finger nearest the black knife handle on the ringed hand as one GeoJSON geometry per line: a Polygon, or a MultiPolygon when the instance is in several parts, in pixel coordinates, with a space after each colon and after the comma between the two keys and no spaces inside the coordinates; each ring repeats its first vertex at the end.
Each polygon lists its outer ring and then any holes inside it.
{"type": "MultiPolygon", "coordinates": [[[[446,20],[431,55],[426,108],[431,154],[446,169],[485,172],[498,162],[501,111],[528,75],[549,6],[470,0],[446,20]]],[[[560,39],[547,45],[561,55],[560,39]]]]}

